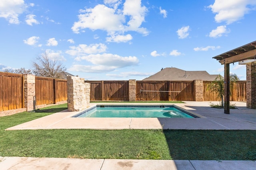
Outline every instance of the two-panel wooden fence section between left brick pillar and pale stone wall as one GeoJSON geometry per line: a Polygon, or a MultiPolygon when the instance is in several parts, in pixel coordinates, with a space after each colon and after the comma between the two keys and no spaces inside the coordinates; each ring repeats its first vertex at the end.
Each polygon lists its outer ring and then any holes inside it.
{"type": "Polygon", "coordinates": [[[67,100],[67,80],[35,77],[36,105],[55,104],[67,100]]]}

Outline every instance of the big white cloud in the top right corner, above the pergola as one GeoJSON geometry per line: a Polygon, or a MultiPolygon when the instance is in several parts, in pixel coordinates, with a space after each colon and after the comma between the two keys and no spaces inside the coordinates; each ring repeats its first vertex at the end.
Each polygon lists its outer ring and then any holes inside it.
{"type": "Polygon", "coordinates": [[[242,19],[250,10],[255,10],[255,5],[255,0],[215,0],[208,8],[217,13],[214,17],[216,22],[230,24],[242,19]]]}

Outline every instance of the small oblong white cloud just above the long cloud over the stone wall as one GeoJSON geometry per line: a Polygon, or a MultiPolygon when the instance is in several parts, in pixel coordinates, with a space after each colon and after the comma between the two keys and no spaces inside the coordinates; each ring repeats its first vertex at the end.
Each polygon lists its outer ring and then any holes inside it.
{"type": "Polygon", "coordinates": [[[67,50],[66,53],[72,56],[83,56],[88,54],[104,53],[107,49],[105,44],[80,44],[77,47],[71,46],[70,50],[67,50]]]}

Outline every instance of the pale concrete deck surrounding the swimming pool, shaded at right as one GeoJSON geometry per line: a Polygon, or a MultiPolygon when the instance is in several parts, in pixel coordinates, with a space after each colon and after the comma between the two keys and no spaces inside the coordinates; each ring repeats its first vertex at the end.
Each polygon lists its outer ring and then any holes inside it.
{"type": "MultiPolygon", "coordinates": [[[[35,119],[6,130],[22,129],[250,129],[256,130],[256,109],[246,108],[245,102],[233,102],[237,109],[210,107],[210,102],[185,102],[175,104],[202,118],[96,118],[72,117],[79,113],[67,110],[35,119]]],[[[96,104],[92,104],[96,105],[96,104]]],[[[104,103],[100,103],[104,105],[104,103]]],[[[123,105],[131,105],[124,103],[123,105]]],[[[135,105],[135,104],[134,104],[135,105]]],[[[137,104],[143,105],[143,104],[137,104]]],[[[145,104],[146,105],[146,104],[145,104]]],[[[167,105],[167,104],[155,104],[167,105]]],[[[40,113],[38,113],[40,114],[40,113]]]]}

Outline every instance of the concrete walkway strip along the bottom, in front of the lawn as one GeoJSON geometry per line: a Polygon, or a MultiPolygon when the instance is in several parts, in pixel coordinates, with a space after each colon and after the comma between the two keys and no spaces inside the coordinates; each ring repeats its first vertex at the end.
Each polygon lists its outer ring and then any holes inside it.
{"type": "Polygon", "coordinates": [[[255,170],[249,160],[137,160],[0,157],[1,170],[255,170]]]}

